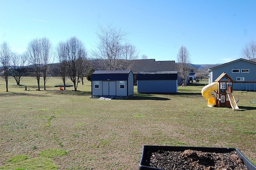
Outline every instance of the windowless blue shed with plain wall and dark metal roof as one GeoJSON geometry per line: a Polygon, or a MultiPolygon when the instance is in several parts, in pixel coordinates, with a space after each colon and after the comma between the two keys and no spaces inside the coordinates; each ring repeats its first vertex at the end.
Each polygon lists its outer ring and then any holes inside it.
{"type": "Polygon", "coordinates": [[[178,71],[140,71],[138,93],[177,93],[178,71]]]}

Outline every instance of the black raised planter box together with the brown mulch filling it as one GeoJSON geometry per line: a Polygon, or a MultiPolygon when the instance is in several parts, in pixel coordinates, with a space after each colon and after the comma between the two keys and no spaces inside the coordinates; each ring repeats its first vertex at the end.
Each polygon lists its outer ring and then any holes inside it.
{"type": "Polygon", "coordinates": [[[236,148],[144,145],[139,170],[256,170],[236,148]]]}

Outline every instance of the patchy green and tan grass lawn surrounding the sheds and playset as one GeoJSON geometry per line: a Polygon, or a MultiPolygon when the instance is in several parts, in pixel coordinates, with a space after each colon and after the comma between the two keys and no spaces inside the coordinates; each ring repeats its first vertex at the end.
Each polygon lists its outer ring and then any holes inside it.
{"type": "Polygon", "coordinates": [[[165,95],[134,86],[134,97],[110,101],[91,99],[87,80],[78,92],[59,91],[60,83],[50,77],[37,91],[34,77],[21,87],[10,79],[5,92],[0,79],[0,169],[138,169],[143,145],[238,148],[256,164],[254,92],[240,94],[232,111],[207,107],[206,81],[165,95]]]}

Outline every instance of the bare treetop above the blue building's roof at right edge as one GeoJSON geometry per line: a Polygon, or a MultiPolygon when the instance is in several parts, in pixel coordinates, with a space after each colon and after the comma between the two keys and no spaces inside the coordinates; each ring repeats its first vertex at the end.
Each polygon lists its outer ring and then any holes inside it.
{"type": "Polygon", "coordinates": [[[242,49],[240,53],[241,57],[250,61],[256,61],[256,42],[253,40],[246,45],[242,49]]]}

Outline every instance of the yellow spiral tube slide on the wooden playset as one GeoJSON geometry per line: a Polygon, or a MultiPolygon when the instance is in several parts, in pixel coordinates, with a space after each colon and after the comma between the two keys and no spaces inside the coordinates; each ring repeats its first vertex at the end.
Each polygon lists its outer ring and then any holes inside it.
{"type": "Polygon", "coordinates": [[[218,82],[210,83],[202,88],[202,96],[207,99],[208,107],[214,107],[216,105],[216,98],[210,94],[210,91],[218,90],[218,82]]]}

